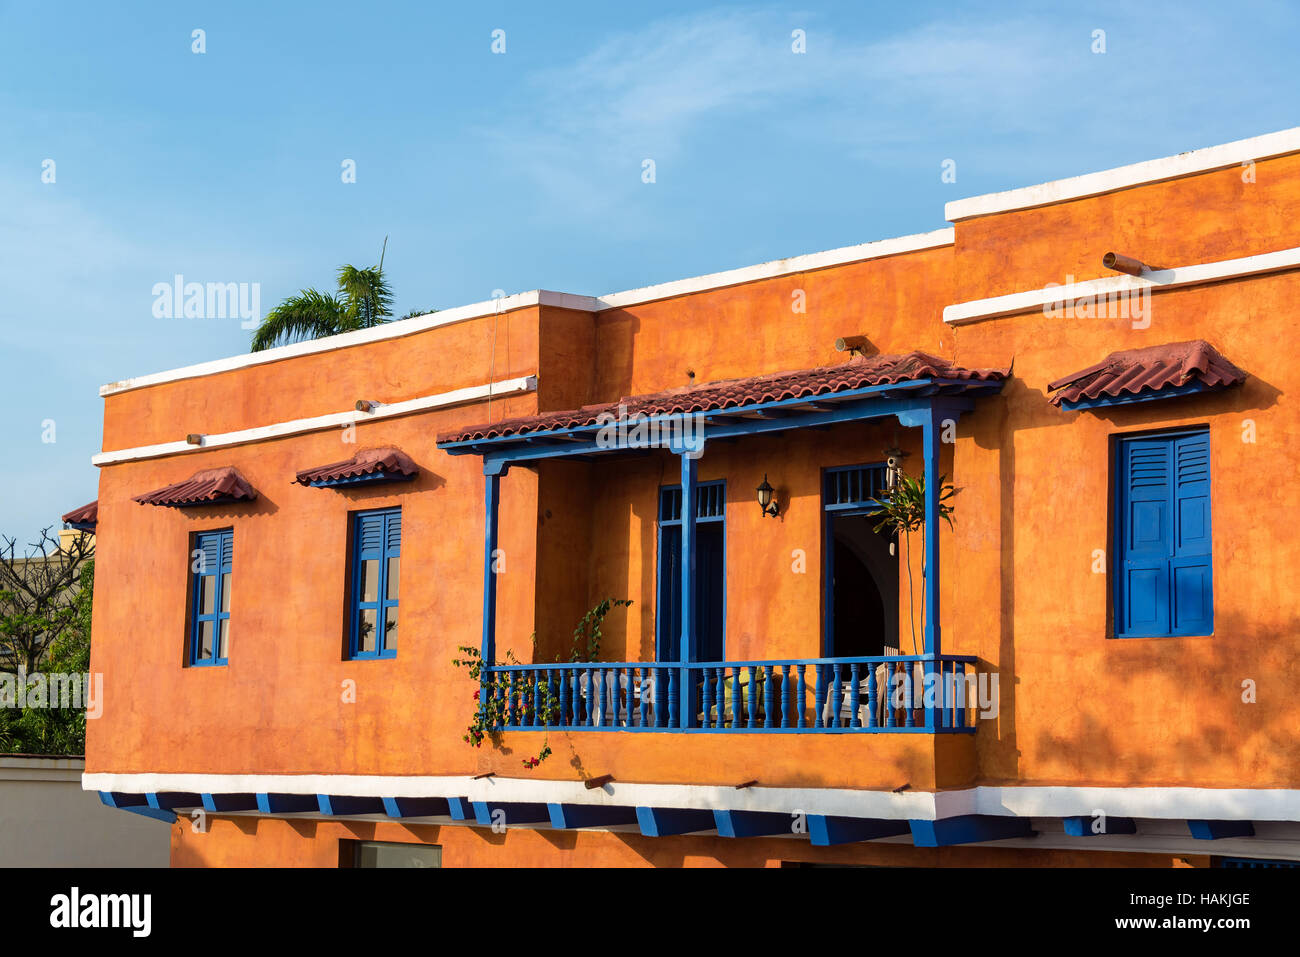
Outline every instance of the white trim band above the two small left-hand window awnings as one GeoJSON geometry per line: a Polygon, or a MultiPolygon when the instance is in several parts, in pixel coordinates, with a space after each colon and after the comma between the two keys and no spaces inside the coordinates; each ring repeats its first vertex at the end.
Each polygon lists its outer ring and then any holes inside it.
{"type": "Polygon", "coordinates": [[[202,451],[204,449],[218,449],[221,446],[243,445],[246,442],[261,442],[268,438],[283,438],[285,436],[296,436],[303,432],[320,432],[321,429],[333,429],[341,425],[360,425],[361,423],[373,421],[376,419],[391,419],[393,416],[408,415],[411,412],[424,412],[430,408],[446,408],[447,406],[477,402],[478,399],[530,393],[536,389],[536,376],[521,376],[520,378],[507,378],[500,382],[474,385],[465,389],[455,389],[450,393],[422,395],[404,402],[381,404],[376,406],[370,412],[358,412],[350,410],[347,412],[318,415],[311,419],[290,419],[289,421],[274,423],[272,425],[259,425],[252,429],[239,429],[238,432],[218,432],[211,436],[203,436],[202,445],[190,445],[182,439],[179,442],[161,442],[159,445],[144,445],[136,446],[135,449],[118,449],[109,452],[99,452],[98,455],[91,456],[91,464],[114,465],[120,462],[138,462],[139,459],[155,459],[161,455],[181,455],[185,452],[202,451]]]}

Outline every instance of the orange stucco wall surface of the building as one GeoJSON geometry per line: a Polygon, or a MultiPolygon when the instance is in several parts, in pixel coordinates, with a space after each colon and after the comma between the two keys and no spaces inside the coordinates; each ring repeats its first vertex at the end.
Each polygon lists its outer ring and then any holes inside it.
{"type": "MultiPolygon", "coordinates": [[[[941,538],[944,650],[976,655],[983,671],[998,674],[1000,715],[974,737],[552,733],[556,757],[530,774],[919,789],[1300,787],[1300,705],[1290,694],[1300,681],[1300,527],[1287,519],[1300,417],[1288,397],[1295,360],[1286,348],[1297,332],[1300,272],[1158,293],[1145,329],[1041,312],[956,329],[941,319],[949,303],[1039,289],[1066,274],[1100,276],[1108,250],[1175,267],[1297,246],[1297,172],[1300,157],[1269,160],[1257,165],[1253,185],[1240,170],[1219,170],[963,221],[953,246],[594,316],[517,309],[110,395],[105,450],[338,412],[358,398],[393,402],[538,376],[537,393],[495,399],[490,410],[474,403],[361,424],[356,445],[339,432],[317,432],[105,467],[92,651],[92,668],[105,675],[105,710],[88,729],[87,770],[524,774],[520,757],[536,753],[541,735],[507,735],[502,746],[480,750],[460,741],[474,685],[450,659],[459,645],[478,645],[482,475],[478,459],[438,451],[436,434],[690,381],[832,364],[844,360],[832,348],[837,335],[866,334],[881,352],[922,348],[970,367],[1014,361],[1004,394],[959,421],[942,460],[961,489],[956,528],[941,538]],[[800,303],[805,311],[792,309],[800,303]],[[1045,385],[1063,373],[1118,348],[1188,338],[1209,339],[1247,369],[1248,382],[1101,412],[1048,404],[1045,385]],[[1108,638],[1109,575],[1093,566],[1101,550],[1101,567],[1109,567],[1113,436],[1186,424],[1210,429],[1216,632],[1108,638]],[[420,478],[372,492],[291,484],[296,469],[374,445],[406,450],[420,478]],[[178,511],[130,501],[211,465],[238,467],[257,502],[178,511]],[[396,503],[404,541],[398,655],[342,661],[347,512],[396,503]],[[188,536],[226,525],[237,555],[230,664],[185,668],[188,536]],[[356,681],[355,703],[342,701],[348,680],[356,681]],[[1254,703],[1243,702],[1247,680],[1257,685],[1254,703]]],[[[909,462],[919,469],[915,433],[888,424],[708,446],[699,477],[728,482],[728,657],[820,653],[820,471],[878,462],[894,441],[914,452],[909,462]],[[760,518],[753,502],[764,473],[777,486],[777,520],[760,518]]],[[[679,481],[676,469],[666,454],[511,469],[502,482],[502,653],[564,655],[582,612],[616,597],[636,605],[607,620],[603,657],[653,658],[656,490],[679,481]]],[[[919,557],[913,560],[919,583],[919,557]]],[[[906,611],[900,619],[906,648],[906,611]]],[[[176,859],[234,863],[269,859],[274,849],[286,859],[325,862],[333,852],[324,844],[295,849],[292,835],[335,835],[339,827],[218,822],[212,835],[179,840],[176,859]]],[[[562,846],[611,863],[660,856],[771,862],[781,853],[771,841],[740,850],[525,832],[510,839],[517,854],[491,858],[499,841],[478,832],[425,839],[476,862],[546,862],[562,846]]],[[[966,852],[941,853],[957,861],[966,852]]]]}

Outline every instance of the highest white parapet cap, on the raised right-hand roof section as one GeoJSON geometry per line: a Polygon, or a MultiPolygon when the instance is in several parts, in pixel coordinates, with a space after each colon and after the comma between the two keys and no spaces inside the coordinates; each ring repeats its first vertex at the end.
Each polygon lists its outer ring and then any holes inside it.
{"type": "Polygon", "coordinates": [[[1088,196],[1098,196],[1104,192],[1117,192],[1134,186],[1158,183],[1197,173],[1209,173],[1216,169],[1226,169],[1227,166],[1239,166],[1245,163],[1294,152],[1300,152],[1300,126],[1278,133],[1266,133],[1262,137],[1238,139],[1222,146],[1192,150],[1186,153],[1178,153],[1178,156],[1134,163],[1128,166],[1115,166],[1100,173],[1088,173],[1087,176],[1074,176],[1067,179],[1053,179],[1037,186],[1024,186],[1018,190],[985,192],[983,196],[957,199],[944,205],[944,218],[949,222],[959,222],[975,216],[991,216],[1014,209],[1032,209],[1035,207],[1052,205],[1053,203],[1065,203],[1071,199],[1086,199],[1088,196]]]}

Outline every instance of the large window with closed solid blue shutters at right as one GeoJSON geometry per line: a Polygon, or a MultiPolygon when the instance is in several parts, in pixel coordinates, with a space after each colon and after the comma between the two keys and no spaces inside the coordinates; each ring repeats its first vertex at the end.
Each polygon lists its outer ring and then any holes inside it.
{"type": "Polygon", "coordinates": [[[1212,635],[1209,429],[1122,436],[1115,452],[1115,637],[1212,635]]]}

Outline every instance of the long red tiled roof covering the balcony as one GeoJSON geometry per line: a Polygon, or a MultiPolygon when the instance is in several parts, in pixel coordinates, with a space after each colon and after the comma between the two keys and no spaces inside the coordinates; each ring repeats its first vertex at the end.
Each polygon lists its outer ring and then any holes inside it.
{"type": "Polygon", "coordinates": [[[972,382],[998,384],[1009,369],[967,369],[952,360],[928,352],[906,355],[874,355],[858,358],[844,365],[832,365],[801,372],[777,372],[750,378],[732,378],[705,382],[697,386],[670,389],[647,395],[630,395],[618,402],[582,406],[566,412],[503,419],[498,423],[456,429],[438,436],[438,445],[471,442],[507,436],[523,436],[555,429],[580,429],[595,425],[602,416],[658,416],[722,412],[729,408],[758,406],[793,399],[816,399],[852,393],[872,386],[916,382],[926,380],[937,389],[945,385],[958,390],[972,382]]]}

